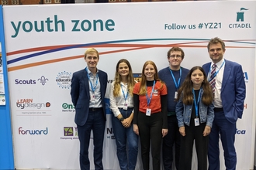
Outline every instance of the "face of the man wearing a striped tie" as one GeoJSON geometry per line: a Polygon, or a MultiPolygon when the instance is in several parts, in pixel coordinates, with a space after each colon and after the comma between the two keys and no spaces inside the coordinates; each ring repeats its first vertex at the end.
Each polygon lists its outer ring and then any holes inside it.
{"type": "Polygon", "coordinates": [[[223,50],[220,42],[209,46],[209,57],[213,60],[213,63],[218,63],[223,59],[225,50],[223,50]]]}

